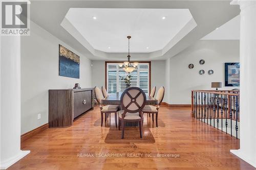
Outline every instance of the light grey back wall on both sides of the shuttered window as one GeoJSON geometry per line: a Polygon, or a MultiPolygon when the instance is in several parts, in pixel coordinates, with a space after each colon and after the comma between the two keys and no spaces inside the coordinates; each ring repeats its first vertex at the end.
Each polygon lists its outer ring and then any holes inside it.
{"type": "MultiPolygon", "coordinates": [[[[92,86],[105,85],[105,61],[92,61],[92,86]]],[[[165,85],[165,61],[151,61],[151,86],[165,85]]]]}

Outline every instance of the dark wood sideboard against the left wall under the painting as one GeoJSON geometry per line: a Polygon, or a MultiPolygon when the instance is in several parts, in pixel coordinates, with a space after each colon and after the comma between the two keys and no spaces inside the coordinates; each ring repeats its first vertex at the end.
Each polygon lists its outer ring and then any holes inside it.
{"type": "Polygon", "coordinates": [[[49,128],[72,126],[74,118],[93,108],[93,101],[93,88],[49,90],[49,128]]]}

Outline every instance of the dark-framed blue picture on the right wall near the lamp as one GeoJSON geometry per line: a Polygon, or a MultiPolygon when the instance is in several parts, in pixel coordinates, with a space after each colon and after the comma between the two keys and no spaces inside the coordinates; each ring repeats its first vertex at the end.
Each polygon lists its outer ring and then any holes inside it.
{"type": "Polygon", "coordinates": [[[240,86],[240,63],[225,63],[225,86],[240,86]]]}

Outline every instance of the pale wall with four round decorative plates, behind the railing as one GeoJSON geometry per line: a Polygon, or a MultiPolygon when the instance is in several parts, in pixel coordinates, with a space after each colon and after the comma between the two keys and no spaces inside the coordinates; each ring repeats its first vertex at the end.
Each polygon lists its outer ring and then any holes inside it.
{"type": "MultiPolygon", "coordinates": [[[[192,89],[211,89],[211,82],[222,82],[224,87],[225,62],[239,62],[239,40],[199,40],[170,59],[170,104],[190,104],[192,89]],[[199,60],[205,64],[200,65],[199,60]],[[193,69],[188,64],[193,63],[193,69]],[[199,75],[204,69],[205,74],[199,75]],[[214,70],[208,75],[208,70],[214,70]]],[[[166,60],[167,62],[167,60],[166,60]]]]}

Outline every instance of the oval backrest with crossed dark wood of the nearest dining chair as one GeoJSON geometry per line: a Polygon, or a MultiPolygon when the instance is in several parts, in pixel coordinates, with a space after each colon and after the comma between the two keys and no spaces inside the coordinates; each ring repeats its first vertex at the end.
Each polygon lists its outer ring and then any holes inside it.
{"type": "Polygon", "coordinates": [[[146,104],[146,94],[139,87],[130,87],[121,95],[121,106],[125,112],[141,112],[146,104]]]}

